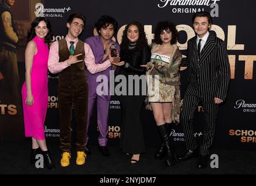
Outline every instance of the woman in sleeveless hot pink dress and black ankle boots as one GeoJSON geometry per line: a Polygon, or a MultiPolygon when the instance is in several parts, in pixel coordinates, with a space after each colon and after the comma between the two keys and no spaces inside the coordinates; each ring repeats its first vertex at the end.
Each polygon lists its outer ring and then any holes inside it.
{"type": "Polygon", "coordinates": [[[42,154],[48,169],[55,169],[44,137],[44,120],[48,106],[47,62],[51,42],[51,24],[44,17],[31,23],[25,51],[26,81],[22,87],[25,136],[32,138],[31,163],[42,154]]]}

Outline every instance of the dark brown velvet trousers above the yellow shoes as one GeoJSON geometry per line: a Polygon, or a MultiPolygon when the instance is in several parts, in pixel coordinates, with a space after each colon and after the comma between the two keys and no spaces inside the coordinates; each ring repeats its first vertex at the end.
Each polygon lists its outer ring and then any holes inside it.
{"type": "Polygon", "coordinates": [[[68,87],[64,83],[58,85],[58,107],[61,130],[59,138],[62,152],[70,152],[71,149],[72,107],[76,121],[76,151],[85,151],[86,146],[88,84],[87,82],[80,83],[79,85],[74,84],[72,84],[72,87],[68,87]]]}

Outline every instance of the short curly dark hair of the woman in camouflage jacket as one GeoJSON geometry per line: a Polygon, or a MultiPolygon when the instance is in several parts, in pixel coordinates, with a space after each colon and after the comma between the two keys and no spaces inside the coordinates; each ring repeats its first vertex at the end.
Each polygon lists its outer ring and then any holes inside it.
{"type": "Polygon", "coordinates": [[[160,38],[160,34],[162,33],[162,31],[164,30],[170,30],[171,31],[171,45],[176,44],[177,40],[178,40],[178,31],[176,29],[175,24],[171,23],[171,22],[159,22],[156,25],[155,28],[155,43],[156,44],[163,44],[163,41],[160,38]]]}

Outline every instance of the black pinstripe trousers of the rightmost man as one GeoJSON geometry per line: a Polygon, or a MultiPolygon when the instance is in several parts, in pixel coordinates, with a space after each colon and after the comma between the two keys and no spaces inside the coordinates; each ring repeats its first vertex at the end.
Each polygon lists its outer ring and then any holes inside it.
{"type": "Polygon", "coordinates": [[[206,156],[209,155],[209,149],[211,148],[213,142],[219,105],[215,103],[205,103],[197,95],[185,95],[183,101],[183,111],[181,112],[181,122],[184,130],[187,150],[194,150],[198,145],[194,137],[192,124],[195,109],[197,108],[199,101],[202,102],[206,120],[204,138],[199,148],[199,152],[202,156],[206,156]]]}

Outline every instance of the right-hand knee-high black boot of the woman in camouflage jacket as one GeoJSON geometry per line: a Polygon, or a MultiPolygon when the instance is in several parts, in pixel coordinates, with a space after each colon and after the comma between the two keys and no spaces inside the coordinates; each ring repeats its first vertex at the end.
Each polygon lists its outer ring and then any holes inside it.
{"type": "Polygon", "coordinates": [[[163,138],[164,146],[166,148],[167,158],[166,160],[164,160],[164,162],[166,163],[167,166],[173,166],[174,164],[178,163],[178,160],[177,160],[177,155],[174,149],[171,148],[169,144],[169,133],[168,133],[169,126],[167,124],[163,124],[162,126],[158,126],[158,127],[159,127],[160,134],[163,138]]]}

